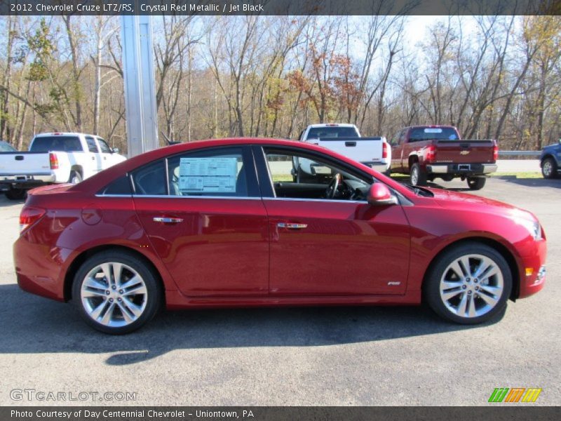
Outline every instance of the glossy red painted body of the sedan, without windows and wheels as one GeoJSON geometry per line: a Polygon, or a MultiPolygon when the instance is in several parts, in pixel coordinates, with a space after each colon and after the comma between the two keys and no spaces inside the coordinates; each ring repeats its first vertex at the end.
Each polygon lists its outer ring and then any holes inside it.
{"type": "MultiPolygon", "coordinates": [[[[255,155],[256,160],[258,154],[255,155]]],[[[256,165],[259,164],[256,161],[256,165]]],[[[20,287],[71,299],[74,274],[88,256],[121,248],[156,269],[170,309],[262,305],[418,304],[424,276],[439,253],[467,239],[487,243],[513,273],[511,298],[543,288],[546,240],[521,221],[531,213],[468,194],[415,194],[366,166],[301,142],[226,139],[191,142],[135,156],[74,186],[35,189],[25,210],[45,214],[14,244],[20,287]],[[262,196],[188,199],[111,196],[99,192],[133,169],[165,156],[228,145],[286,147],[320,153],[383,182],[407,206],[362,201],[278,200],[262,196]],[[182,225],[154,217],[182,218],[182,225]],[[302,231],[278,222],[306,224],[302,231]]]]}

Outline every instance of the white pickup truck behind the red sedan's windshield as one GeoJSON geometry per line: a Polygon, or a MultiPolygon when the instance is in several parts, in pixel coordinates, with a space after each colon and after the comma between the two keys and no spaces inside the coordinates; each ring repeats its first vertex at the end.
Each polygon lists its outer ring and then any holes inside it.
{"type": "MultiPolygon", "coordinates": [[[[320,145],[334,152],[364,163],[380,173],[388,174],[391,147],[386,138],[362,138],[354,124],[311,124],[300,133],[300,141],[320,145]]],[[[294,163],[295,180],[304,180],[313,174],[308,160],[294,163]]]]}

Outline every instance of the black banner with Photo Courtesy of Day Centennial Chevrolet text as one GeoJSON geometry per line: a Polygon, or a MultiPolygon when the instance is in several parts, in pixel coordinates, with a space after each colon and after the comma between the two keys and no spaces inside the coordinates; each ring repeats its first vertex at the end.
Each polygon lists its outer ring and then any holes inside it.
{"type": "Polygon", "coordinates": [[[557,421],[559,407],[515,406],[489,407],[133,407],[133,406],[67,406],[3,407],[2,421],[189,421],[189,420],[431,420],[431,421],[557,421]]]}

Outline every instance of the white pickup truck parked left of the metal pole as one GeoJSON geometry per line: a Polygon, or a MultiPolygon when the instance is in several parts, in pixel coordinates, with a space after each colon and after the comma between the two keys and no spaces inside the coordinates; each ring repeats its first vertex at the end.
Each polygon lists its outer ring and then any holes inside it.
{"type": "Polygon", "coordinates": [[[125,159],[99,136],[41,133],[32,139],[29,152],[0,152],[0,191],[8,199],[23,199],[28,189],[81,182],[125,159]]]}

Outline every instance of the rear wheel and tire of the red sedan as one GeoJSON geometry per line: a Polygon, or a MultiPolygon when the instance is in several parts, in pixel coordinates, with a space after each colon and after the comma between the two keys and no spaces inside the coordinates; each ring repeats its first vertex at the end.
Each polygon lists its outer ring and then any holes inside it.
{"type": "Polygon", "coordinates": [[[137,255],[121,250],[93,255],[83,262],[72,284],[72,302],[84,321],[111,335],[133,332],[150,321],[161,307],[162,294],[154,269],[137,255]],[[117,271],[121,274],[119,282],[114,280],[115,264],[122,265],[117,271]],[[107,281],[101,265],[111,265],[111,281],[107,281]],[[136,283],[121,289],[133,277],[136,283]]]}

